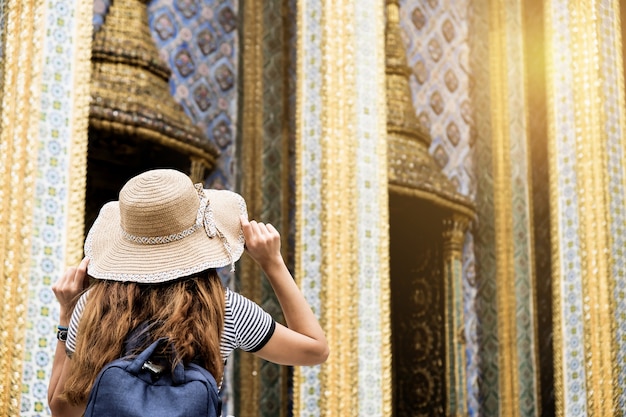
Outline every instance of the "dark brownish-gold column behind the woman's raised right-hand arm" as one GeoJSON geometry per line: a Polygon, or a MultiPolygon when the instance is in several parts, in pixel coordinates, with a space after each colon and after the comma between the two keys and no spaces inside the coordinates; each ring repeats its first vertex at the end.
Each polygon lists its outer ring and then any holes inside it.
{"type": "MultiPolygon", "coordinates": [[[[238,142],[241,177],[238,184],[248,202],[250,216],[270,222],[281,232],[283,256],[292,268],[292,225],[290,225],[290,159],[293,148],[293,115],[289,98],[290,53],[294,48],[289,33],[295,23],[285,0],[247,0],[242,3],[243,31],[241,122],[238,142]],[[290,26],[292,25],[292,26],[290,26]]],[[[269,282],[249,258],[244,258],[239,275],[241,290],[281,321],[280,305],[269,282]]],[[[286,416],[289,412],[288,378],[285,366],[240,355],[236,410],[243,416],[286,416]]]]}

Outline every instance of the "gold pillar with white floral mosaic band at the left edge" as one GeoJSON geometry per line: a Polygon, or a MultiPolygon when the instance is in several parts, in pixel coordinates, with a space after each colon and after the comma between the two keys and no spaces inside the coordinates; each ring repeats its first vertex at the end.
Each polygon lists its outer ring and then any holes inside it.
{"type": "Polygon", "coordinates": [[[66,6],[4,2],[2,415],[46,412],[58,323],[50,285],[82,255],[93,5],[66,6]]]}

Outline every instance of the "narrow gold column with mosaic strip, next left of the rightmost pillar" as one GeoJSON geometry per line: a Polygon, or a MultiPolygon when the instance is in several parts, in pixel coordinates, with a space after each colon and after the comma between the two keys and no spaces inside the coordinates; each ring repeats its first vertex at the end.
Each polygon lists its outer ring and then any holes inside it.
{"type": "Polygon", "coordinates": [[[523,2],[490,0],[489,24],[499,407],[531,417],[541,411],[523,2]]]}

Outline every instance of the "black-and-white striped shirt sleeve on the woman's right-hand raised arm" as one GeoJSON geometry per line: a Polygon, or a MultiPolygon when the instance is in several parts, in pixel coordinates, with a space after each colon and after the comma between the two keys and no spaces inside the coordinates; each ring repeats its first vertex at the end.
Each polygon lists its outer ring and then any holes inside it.
{"type": "MultiPolygon", "coordinates": [[[[226,311],[222,347],[257,352],[274,334],[276,322],[254,301],[226,289],[226,311]]],[[[230,352],[226,353],[226,356],[230,352]]]]}

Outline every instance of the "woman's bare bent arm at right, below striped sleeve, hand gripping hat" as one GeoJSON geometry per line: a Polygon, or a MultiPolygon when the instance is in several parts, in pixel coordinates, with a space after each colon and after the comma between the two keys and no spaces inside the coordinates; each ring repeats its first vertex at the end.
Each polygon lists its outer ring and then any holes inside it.
{"type": "Polygon", "coordinates": [[[324,331],[300,292],[280,253],[280,234],[271,224],[241,219],[248,254],[267,275],[287,327],[277,324],[270,340],[255,354],[281,365],[317,365],[328,358],[324,331]]]}

